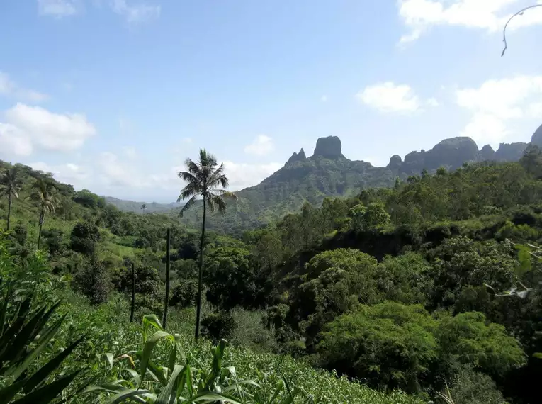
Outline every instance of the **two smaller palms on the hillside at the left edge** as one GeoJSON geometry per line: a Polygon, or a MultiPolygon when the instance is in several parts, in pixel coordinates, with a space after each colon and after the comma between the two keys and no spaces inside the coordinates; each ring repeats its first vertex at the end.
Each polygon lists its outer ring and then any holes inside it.
{"type": "MultiPolygon", "coordinates": [[[[8,214],[6,217],[6,230],[8,231],[10,228],[13,199],[18,198],[18,193],[21,191],[22,186],[23,179],[18,167],[13,166],[6,168],[4,169],[4,172],[0,174],[0,196],[6,196],[8,198],[8,214]]],[[[38,203],[40,208],[40,228],[38,231],[38,249],[40,249],[41,230],[43,228],[43,221],[45,220],[45,213],[55,211],[55,204],[58,202],[55,184],[47,177],[37,179],[33,184],[32,192],[27,199],[38,203]]]]}

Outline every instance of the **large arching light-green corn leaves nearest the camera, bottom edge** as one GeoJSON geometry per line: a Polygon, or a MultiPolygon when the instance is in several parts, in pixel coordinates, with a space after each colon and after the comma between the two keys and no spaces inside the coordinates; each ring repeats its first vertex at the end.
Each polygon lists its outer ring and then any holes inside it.
{"type": "Polygon", "coordinates": [[[208,368],[191,355],[184,354],[179,335],[164,331],[156,315],[143,318],[142,335],[142,350],[123,354],[116,359],[110,353],[104,354],[110,369],[113,369],[115,362],[128,364],[118,371],[119,375],[125,374],[128,377],[120,377],[111,383],[98,383],[86,388],[86,393],[107,395],[107,404],[125,401],[154,404],[295,403],[295,395],[299,390],[291,389],[285,378],[271,395],[264,395],[258,383],[239,379],[235,367],[225,364],[226,340],[221,340],[211,350],[212,361],[208,368]],[[171,346],[166,366],[159,366],[153,360],[153,351],[161,340],[171,346]],[[181,364],[177,364],[178,359],[181,364]]]}

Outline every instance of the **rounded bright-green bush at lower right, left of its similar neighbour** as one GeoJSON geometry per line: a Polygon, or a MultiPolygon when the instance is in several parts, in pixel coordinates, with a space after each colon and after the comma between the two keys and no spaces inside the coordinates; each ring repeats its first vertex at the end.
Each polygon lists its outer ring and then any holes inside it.
{"type": "Polygon", "coordinates": [[[328,369],[414,393],[439,355],[435,328],[421,305],[363,305],[324,328],[317,352],[328,369]]]}

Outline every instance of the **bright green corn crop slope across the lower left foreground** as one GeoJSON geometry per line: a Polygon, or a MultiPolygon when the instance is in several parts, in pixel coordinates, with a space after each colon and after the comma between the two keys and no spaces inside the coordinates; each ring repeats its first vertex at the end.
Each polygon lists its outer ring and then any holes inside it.
{"type": "MultiPolygon", "coordinates": [[[[35,374],[47,376],[43,369],[51,370],[50,364],[54,363],[57,366],[47,377],[49,384],[35,385],[35,388],[66,383],[62,384],[58,399],[67,403],[88,403],[89,399],[92,403],[115,403],[122,402],[127,395],[136,403],[171,403],[167,400],[171,395],[179,397],[178,403],[214,403],[220,399],[224,403],[421,403],[397,391],[390,395],[373,391],[289,357],[242,347],[225,349],[224,342],[218,347],[207,340],[196,342],[191,337],[194,317],[191,309],[172,310],[169,329],[178,333],[164,332],[154,315],[145,316],[140,327],[128,322],[128,302],[119,296],[113,295],[99,306],[90,305],[86,298],[52,276],[40,254],[14,257],[8,248],[1,253],[2,279],[21,282],[28,293],[44,303],[62,298],[55,325],[41,337],[45,339],[45,335],[54,331],[55,338],[48,339],[47,344],[38,338],[24,351],[33,355],[35,349],[40,349],[40,354],[33,356],[32,371],[24,377],[30,376],[31,380],[35,374]],[[36,259],[39,266],[33,266],[36,259]],[[83,334],[86,338],[81,342],[83,334]],[[81,368],[85,368],[84,371],[81,368]],[[94,380],[94,387],[86,388],[89,378],[94,380]],[[67,386],[69,381],[72,383],[67,386]],[[56,382],[58,384],[52,384],[56,382]],[[86,394],[81,394],[84,388],[86,394]],[[140,390],[134,390],[136,388],[140,390]],[[230,396],[232,398],[227,398],[230,396]]],[[[13,319],[13,316],[6,318],[13,319]]],[[[16,375],[9,378],[0,374],[0,386],[9,388],[13,377],[16,375]]],[[[29,390],[29,394],[16,403],[51,402],[45,400],[47,396],[43,392],[40,400],[32,394],[29,390]]]]}

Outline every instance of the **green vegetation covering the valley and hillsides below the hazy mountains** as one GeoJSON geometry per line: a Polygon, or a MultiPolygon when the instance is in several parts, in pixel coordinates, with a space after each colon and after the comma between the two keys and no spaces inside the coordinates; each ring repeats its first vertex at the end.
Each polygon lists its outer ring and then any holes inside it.
{"type": "MultiPolygon", "coordinates": [[[[18,316],[30,326],[11,333],[13,354],[22,356],[0,364],[0,388],[35,372],[43,378],[13,400],[57,381],[64,384],[55,397],[70,403],[538,400],[536,146],[519,162],[423,171],[393,188],[305,201],[237,237],[205,232],[205,220],[200,233],[169,215],[123,213],[89,191],[15,168],[21,198],[11,201],[16,225],[1,236],[0,286],[2,296],[28,295],[6,299],[1,337],[19,327],[18,316]],[[28,198],[36,190],[41,196],[28,198]],[[36,307],[26,314],[23,296],[36,307]],[[44,313],[50,322],[40,320],[44,313]],[[42,345],[48,334],[34,322],[58,324],[55,338],[42,345]],[[2,373],[34,349],[41,354],[26,361],[26,373],[2,373]]],[[[222,170],[204,151],[187,161],[182,212],[201,206],[203,219],[207,208],[224,210],[222,170]]],[[[6,218],[8,205],[0,204],[6,218]]]]}

